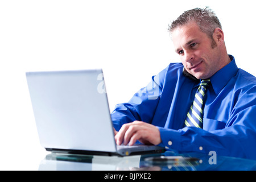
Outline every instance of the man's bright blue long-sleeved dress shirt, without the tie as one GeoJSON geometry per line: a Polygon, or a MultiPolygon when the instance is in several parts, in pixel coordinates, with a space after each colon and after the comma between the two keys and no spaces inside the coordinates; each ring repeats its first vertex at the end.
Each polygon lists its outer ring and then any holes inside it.
{"type": "Polygon", "coordinates": [[[158,127],[159,146],[167,150],[256,159],[256,78],[238,69],[233,56],[230,59],[210,77],[203,129],[184,126],[200,80],[184,76],[183,64],[171,63],[129,102],[115,107],[115,130],[143,121],[158,127]]]}

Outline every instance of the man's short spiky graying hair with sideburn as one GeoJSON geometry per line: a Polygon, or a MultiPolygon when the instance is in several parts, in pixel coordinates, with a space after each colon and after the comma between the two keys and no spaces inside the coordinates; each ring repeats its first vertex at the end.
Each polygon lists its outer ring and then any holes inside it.
{"type": "MultiPolygon", "coordinates": [[[[220,20],[217,18],[213,10],[208,7],[204,9],[196,8],[185,11],[174,22],[168,26],[168,30],[172,33],[175,28],[184,26],[185,24],[195,22],[205,32],[210,39],[213,40],[213,32],[215,28],[221,28],[220,20]]],[[[213,40],[213,44],[216,44],[213,40]]]]}

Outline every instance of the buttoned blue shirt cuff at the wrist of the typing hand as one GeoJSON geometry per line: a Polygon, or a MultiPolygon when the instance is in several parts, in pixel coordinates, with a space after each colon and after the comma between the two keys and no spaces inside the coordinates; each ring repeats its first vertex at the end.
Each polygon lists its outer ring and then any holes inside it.
{"type": "Polygon", "coordinates": [[[160,137],[162,143],[159,144],[161,147],[165,147],[166,150],[180,150],[180,137],[181,132],[179,130],[165,129],[158,127],[160,131],[160,137]]]}

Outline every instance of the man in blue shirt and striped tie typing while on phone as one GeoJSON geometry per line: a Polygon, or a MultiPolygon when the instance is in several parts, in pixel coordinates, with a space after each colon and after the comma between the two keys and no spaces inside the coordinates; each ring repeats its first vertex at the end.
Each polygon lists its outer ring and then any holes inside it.
{"type": "Polygon", "coordinates": [[[256,159],[256,78],[228,55],[221,24],[193,9],[169,27],[181,63],[171,63],[112,113],[117,144],[256,159]]]}

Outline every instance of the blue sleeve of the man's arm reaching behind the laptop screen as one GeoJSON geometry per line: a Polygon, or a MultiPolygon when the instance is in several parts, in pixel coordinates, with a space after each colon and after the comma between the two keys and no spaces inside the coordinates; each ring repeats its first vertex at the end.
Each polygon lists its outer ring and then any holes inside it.
{"type": "Polygon", "coordinates": [[[153,76],[151,82],[135,93],[129,102],[118,104],[115,107],[111,116],[116,131],[119,131],[124,124],[134,121],[151,123],[162,93],[166,71],[167,69],[164,69],[158,75],[153,76]]]}

